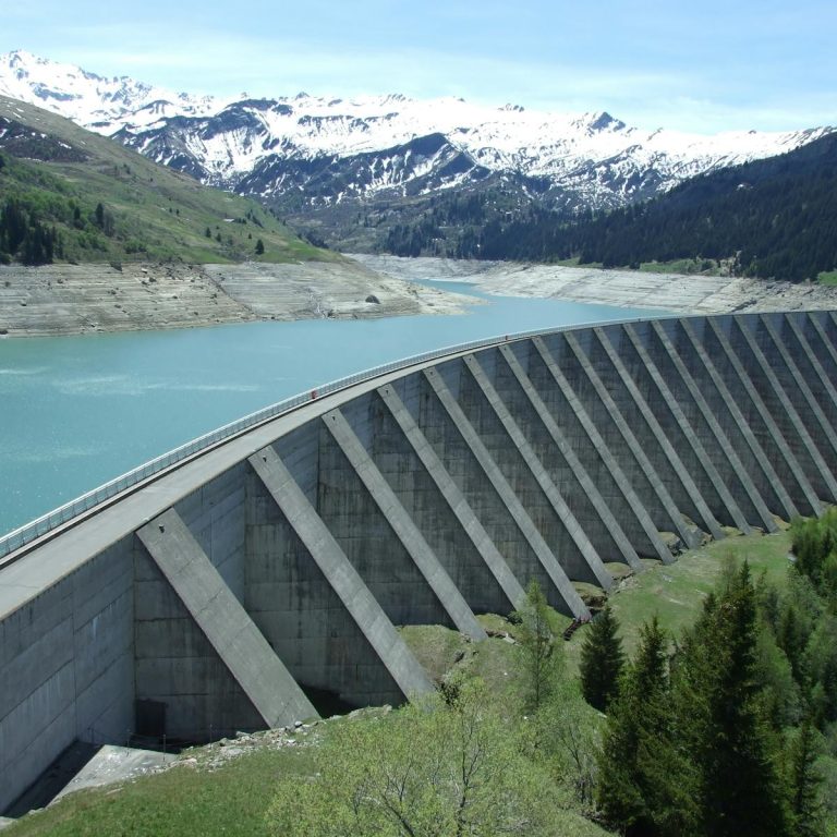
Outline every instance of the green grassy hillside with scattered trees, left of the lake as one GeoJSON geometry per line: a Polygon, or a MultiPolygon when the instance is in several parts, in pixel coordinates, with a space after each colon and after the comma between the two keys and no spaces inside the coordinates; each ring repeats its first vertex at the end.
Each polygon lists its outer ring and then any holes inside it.
{"type": "Polygon", "coordinates": [[[0,263],[336,258],[254,201],[0,96],[0,263]]]}

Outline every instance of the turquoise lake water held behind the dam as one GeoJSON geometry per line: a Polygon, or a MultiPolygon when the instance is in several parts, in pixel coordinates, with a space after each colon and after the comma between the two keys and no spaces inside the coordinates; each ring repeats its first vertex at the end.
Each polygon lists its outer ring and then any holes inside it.
{"type": "Polygon", "coordinates": [[[0,535],[222,424],[372,366],[515,331],[660,316],[427,284],[488,304],[460,316],[0,340],[0,535]]]}

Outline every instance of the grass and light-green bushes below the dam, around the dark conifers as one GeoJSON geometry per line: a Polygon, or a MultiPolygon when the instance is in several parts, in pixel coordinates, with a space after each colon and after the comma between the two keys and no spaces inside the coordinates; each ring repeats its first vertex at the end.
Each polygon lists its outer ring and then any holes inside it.
{"type": "MultiPolygon", "coordinates": [[[[834,525],[830,515],[810,524],[797,523],[792,533],[713,542],[684,553],[674,565],[646,561],[646,572],[624,579],[609,596],[618,635],[634,663],[642,658],[648,621],[658,620],[666,647],[663,671],[669,672],[666,680],[676,683],[680,682],[679,667],[688,660],[684,655],[695,647],[688,641],[688,632],[701,630],[701,624],[705,628],[707,614],[713,612],[712,603],[720,597],[724,604],[725,585],[740,574],[741,561],[749,562],[757,619],[751,610],[749,621],[744,620],[749,627],[742,630],[751,647],[735,659],[742,660],[740,667],[754,676],[747,687],[751,692],[756,690],[760,699],[755,703],[730,702],[729,709],[738,713],[749,706],[761,718],[757,732],[763,737],[766,733],[764,740],[774,756],[771,764],[776,775],[784,777],[783,787],[774,789],[773,801],[788,797],[786,817],[779,823],[787,827],[768,832],[772,837],[835,834],[837,724],[833,714],[837,688],[832,678],[837,655],[835,617],[829,609],[835,587],[828,572],[837,565],[834,555],[817,562],[822,556],[817,558],[814,548],[834,525]],[[809,527],[813,527],[813,535],[809,527]],[[803,532],[809,533],[806,538],[800,538],[803,532]],[[800,548],[802,539],[808,544],[805,549],[800,548]],[[796,568],[788,561],[791,543],[801,556],[796,568]],[[803,578],[813,578],[812,570],[817,568],[826,571],[813,575],[830,605],[803,578]],[[791,650],[789,643],[797,650],[791,650]],[[794,680],[800,674],[801,684],[794,680]],[[800,785],[792,756],[800,751],[800,721],[811,699],[822,731],[815,733],[806,764],[809,773],[800,785]],[[810,803],[806,810],[798,804],[801,797],[791,792],[800,787],[808,794],[802,794],[803,801],[810,803]]],[[[832,543],[828,535],[827,544],[832,543]]],[[[729,608],[720,606],[717,612],[729,608]]],[[[672,765],[671,752],[662,744],[668,735],[688,728],[691,721],[662,730],[641,726],[643,733],[656,730],[660,747],[648,749],[650,761],[638,759],[632,764],[626,760],[626,771],[619,777],[624,786],[611,789],[604,799],[602,783],[606,777],[602,766],[606,753],[602,744],[614,724],[584,702],[579,682],[593,627],[584,627],[568,642],[560,641],[558,636],[569,620],[544,605],[542,630],[554,634],[555,641],[549,643],[546,657],[546,698],[533,707],[531,648],[539,646],[533,642],[532,616],[529,606],[511,620],[480,616],[489,633],[481,643],[441,626],[402,628],[411,650],[440,688],[440,694],[428,701],[395,712],[363,709],[299,729],[242,733],[234,740],[186,750],[175,768],[70,794],[44,811],[22,817],[8,834],[606,837],[624,833],[616,821],[609,823],[615,830],[607,830],[607,801],[629,790],[638,767],[650,767],[655,783],[663,790],[671,790],[674,774],[667,773],[672,765]],[[474,760],[470,764],[477,768],[474,776],[478,779],[472,786],[469,810],[480,822],[472,822],[474,827],[469,830],[451,823],[456,812],[462,810],[453,804],[462,797],[451,797],[451,790],[462,787],[462,753],[474,760]],[[457,769],[450,769],[451,755],[457,769]],[[388,783],[393,777],[398,778],[396,787],[401,793],[398,809],[386,805],[387,788],[392,787],[388,783]],[[399,813],[403,817],[399,818],[399,813]],[[411,821],[415,820],[422,827],[413,827],[411,821]]],[[[719,660],[728,658],[725,647],[715,651],[719,660]]],[[[731,668],[737,670],[738,665],[731,668]]],[[[623,682],[630,683],[627,679],[623,682]]],[[[654,703],[645,692],[639,693],[639,700],[633,717],[643,723],[660,708],[680,705],[678,700],[654,703]]],[[[618,712],[617,704],[608,715],[618,712]]],[[[716,747],[724,750],[725,739],[719,739],[716,747]]],[[[686,752],[702,751],[691,748],[686,752]]],[[[748,752],[745,749],[744,755],[748,752]]],[[[694,778],[686,776],[688,781],[694,778]]],[[[730,786],[733,784],[740,783],[730,786]]],[[[657,804],[667,792],[663,790],[662,796],[639,799],[643,805],[657,804]]],[[[771,797],[762,797],[759,803],[771,803],[771,797]]],[[[714,806],[708,810],[713,812],[714,806]]],[[[674,818],[679,822],[682,817],[675,812],[674,818]]],[[[737,830],[717,829],[713,822],[692,823],[683,830],[666,829],[646,820],[633,824],[627,833],[648,837],[764,834],[756,827],[759,818],[760,808],[752,808],[737,830]]]]}

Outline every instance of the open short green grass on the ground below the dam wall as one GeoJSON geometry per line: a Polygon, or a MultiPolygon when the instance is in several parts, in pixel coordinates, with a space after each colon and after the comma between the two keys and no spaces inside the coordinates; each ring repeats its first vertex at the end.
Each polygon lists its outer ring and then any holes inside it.
{"type": "MultiPolygon", "coordinates": [[[[626,646],[633,650],[640,627],[655,612],[672,633],[691,622],[730,558],[747,558],[754,574],[766,572],[768,579],[781,583],[789,545],[787,533],[749,535],[712,543],[682,555],[667,567],[650,565],[646,572],[629,578],[611,595],[626,646]]],[[[501,617],[485,615],[480,619],[486,629],[514,635],[515,627],[501,617]]],[[[557,618],[557,627],[567,623],[569,619],[557,618]]],[[[402,635],[435,679],[464,667],[482,677],[498,701],[512,699],[520,678],[520,659],[518,647],[502,638],[472,643],[438,626],[404,628],[402,635]]],[[[582,640],[583,629],[563,645],[567,676],[577,671],[582,640]]],[[[328,725],[315,729],[317,735],[328,735],[328,725]]],[[[211,772],[180,767],[116,789],[72,794],[44,812],[24,817],[4,835],[266,834],[264,812],[276,777],[281,772],[304,774],[311,768],[311,755],[304,748],[260,750],[230,760],[211,772]]],[[[556,823],[556,834],[581,837],[607,833],[573,811],[566,811],[562,822],[556,823]]]]}

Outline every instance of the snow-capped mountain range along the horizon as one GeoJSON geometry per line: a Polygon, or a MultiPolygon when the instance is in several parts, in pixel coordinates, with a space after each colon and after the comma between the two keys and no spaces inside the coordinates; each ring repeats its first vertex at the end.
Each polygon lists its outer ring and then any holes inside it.
{"type": "Polygon", "coordinates": [[[0,57],[0,94],[69,117],[206,183],[299,211],[487,182],[529,197],[560,195],[563,204],[616,206],[833,130],[647,132],[603,112],[400,95],[196,98],[21,51],[0,57]]]}

